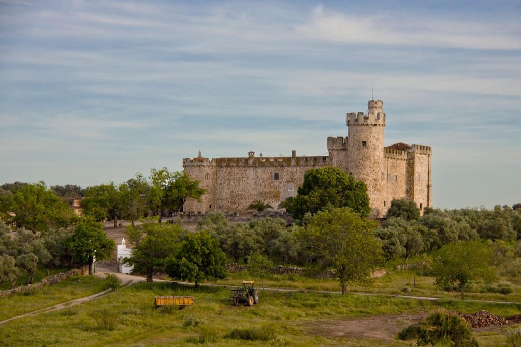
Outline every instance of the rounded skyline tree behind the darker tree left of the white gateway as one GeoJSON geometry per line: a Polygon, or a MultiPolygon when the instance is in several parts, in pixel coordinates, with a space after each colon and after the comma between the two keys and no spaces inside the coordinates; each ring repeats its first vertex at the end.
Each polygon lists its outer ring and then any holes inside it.
{"type": "Polygon", "coordinates": [[[122,208],[120,194],[114,182],[87,187],[81,206],[86,216],[97,221],[114,219],[114,228],[118,226],[118,214],[122,208]]]}

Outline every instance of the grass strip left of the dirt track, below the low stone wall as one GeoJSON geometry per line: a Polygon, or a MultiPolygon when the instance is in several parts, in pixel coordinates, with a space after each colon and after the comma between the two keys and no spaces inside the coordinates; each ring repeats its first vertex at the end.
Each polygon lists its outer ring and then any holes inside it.
{"type": "Polygon", "coordinates": [[[104,283],[95,276],[73,276],[53,286],[0,298],[0,320],[100,292],[104,283]]]}

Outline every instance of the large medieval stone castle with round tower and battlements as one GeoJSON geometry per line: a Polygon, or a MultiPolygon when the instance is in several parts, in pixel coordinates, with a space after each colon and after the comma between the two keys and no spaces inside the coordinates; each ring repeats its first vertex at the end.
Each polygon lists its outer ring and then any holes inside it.
{"type": "Polygon", "coordinates": [[[414,201],[423,210],[432,206],[432,149],[425,145],[383,145],[386,115],[381,100],[370,100],[367,114],[348,113],[348,137],[327,138],[327,156],[255,156],[184,158],[183,170],[201,182],[207,193],[202,201],[189,199],[185,212],[246,210],[254,200],[274,208],[296,195],[304,173],[312,168],[334,166],[367,184],[370,207],[382,217],[393,199],[414,201]]]}

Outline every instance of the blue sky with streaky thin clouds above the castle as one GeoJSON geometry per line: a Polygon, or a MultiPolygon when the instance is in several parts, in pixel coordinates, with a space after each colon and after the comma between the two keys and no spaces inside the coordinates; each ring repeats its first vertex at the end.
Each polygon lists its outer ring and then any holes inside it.
{"type": "Polygon", "coordinates": [[[433,204],[521,202],[521,1],[0,0],[0,184],[327,154],[371,85],[433,204]]]}

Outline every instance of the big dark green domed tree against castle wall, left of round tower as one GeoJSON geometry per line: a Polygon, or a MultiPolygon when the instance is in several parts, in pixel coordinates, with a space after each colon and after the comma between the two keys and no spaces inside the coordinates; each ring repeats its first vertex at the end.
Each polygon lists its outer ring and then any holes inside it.
{"type": "Polygon", "coordinates": [[[304,183],[297,190],[288,212],[294,219],[302,219],[306,212],[312,214],[332,207],[350,207],[354,212],[367,216],[370,212],[367,186],[336,167],[308,170],[304,183]]]}

